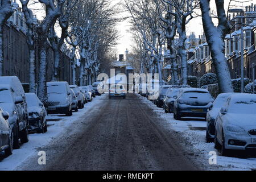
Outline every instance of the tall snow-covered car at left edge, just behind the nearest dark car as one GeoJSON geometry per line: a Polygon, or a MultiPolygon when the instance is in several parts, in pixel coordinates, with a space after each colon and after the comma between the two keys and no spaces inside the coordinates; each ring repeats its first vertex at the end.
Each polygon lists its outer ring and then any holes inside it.
{"type": "Polygon", "coordinates": [[[13,148],[19,148],[19,139],[21,143],[28,142],[28,112],[24,89],[18,77],[0,77],[0,107],[9,113],[13,148]]]}

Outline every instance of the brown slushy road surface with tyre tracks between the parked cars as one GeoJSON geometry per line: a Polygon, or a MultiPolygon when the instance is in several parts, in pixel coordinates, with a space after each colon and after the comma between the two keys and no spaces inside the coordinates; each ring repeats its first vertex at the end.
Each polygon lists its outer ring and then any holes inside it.
{"type": "Polygon", "coordinates": [[[131,94],[126,100],[101,98],[98,110],[46,147],[47,164],[38,156],[18,169],[25,170],[197,170],[165,122],[131,94]]]}

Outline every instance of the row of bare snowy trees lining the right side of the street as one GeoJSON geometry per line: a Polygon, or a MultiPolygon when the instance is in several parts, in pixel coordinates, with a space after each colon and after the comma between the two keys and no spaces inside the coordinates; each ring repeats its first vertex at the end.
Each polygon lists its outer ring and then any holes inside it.
{"type": "Polygon", "coordinates": [[[200,9],[220,91],[232,92],[224,49],[224,38],[229,34],[230,26],[224,0],[216,0],[215,3],[217,26],[210,15],[210,0],[125,0],[125,7],[131,15],[134,53],[140,63],[139,71],[159,73],[162,82],[160,61],[166,56],[170,58],[172,84],[187,85],[187,25],[200,9]],[[166,45],[169,55],[163,55],[166,45]]]}

